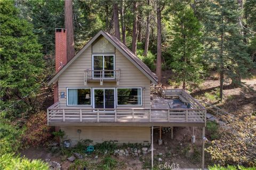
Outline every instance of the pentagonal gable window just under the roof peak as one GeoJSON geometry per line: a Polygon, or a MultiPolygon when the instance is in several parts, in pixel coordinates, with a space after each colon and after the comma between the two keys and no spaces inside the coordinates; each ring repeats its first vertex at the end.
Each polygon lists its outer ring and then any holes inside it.
{"type": "Polygon", "coordinates": [[[102,37],[92,46],[92,53],[115,53],[115,47],[102,37]]]}

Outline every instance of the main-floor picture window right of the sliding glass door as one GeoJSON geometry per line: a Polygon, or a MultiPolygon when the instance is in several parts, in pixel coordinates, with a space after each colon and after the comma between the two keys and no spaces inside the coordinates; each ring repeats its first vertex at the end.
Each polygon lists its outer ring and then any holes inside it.
{"type": "Polygon", "coordinates": [[[142,105],[141,88],[117,88],[117,105],[142,105]]]}

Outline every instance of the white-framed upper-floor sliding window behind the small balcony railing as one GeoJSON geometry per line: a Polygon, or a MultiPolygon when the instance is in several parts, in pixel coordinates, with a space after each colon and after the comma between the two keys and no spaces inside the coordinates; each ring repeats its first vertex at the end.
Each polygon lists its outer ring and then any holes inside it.
{"type": "Polygon", "coordinates": [[[113,78],[115,70],[114,55],[93,55],[93,78],[113,78]],[[102,70],[102,71],[101,71],[102,70]]]}

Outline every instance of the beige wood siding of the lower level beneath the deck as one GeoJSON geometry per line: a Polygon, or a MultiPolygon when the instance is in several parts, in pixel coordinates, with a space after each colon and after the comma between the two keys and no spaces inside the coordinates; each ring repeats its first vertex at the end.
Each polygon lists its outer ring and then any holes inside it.
{"type": "Polygon", "coordinates": [[[91,127],[69,126],[60,127],[65,131],[65,140],[71,140],[71,146],[76,145],[79,139],[90,139],[93,143],[115,141],[117,143],[150,143],[149,127],[91,127]],[[77,130],[81,130],[80,138],[77,130]]]}

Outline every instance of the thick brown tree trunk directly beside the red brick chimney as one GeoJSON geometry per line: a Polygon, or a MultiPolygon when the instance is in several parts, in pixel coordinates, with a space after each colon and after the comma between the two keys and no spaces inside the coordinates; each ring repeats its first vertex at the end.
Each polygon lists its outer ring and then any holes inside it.
{"type": "Polygon", "coordinates": [[[73,2],[65,0],[65,28],[67,29],[67,61],[75,55],[73,2]]]}

